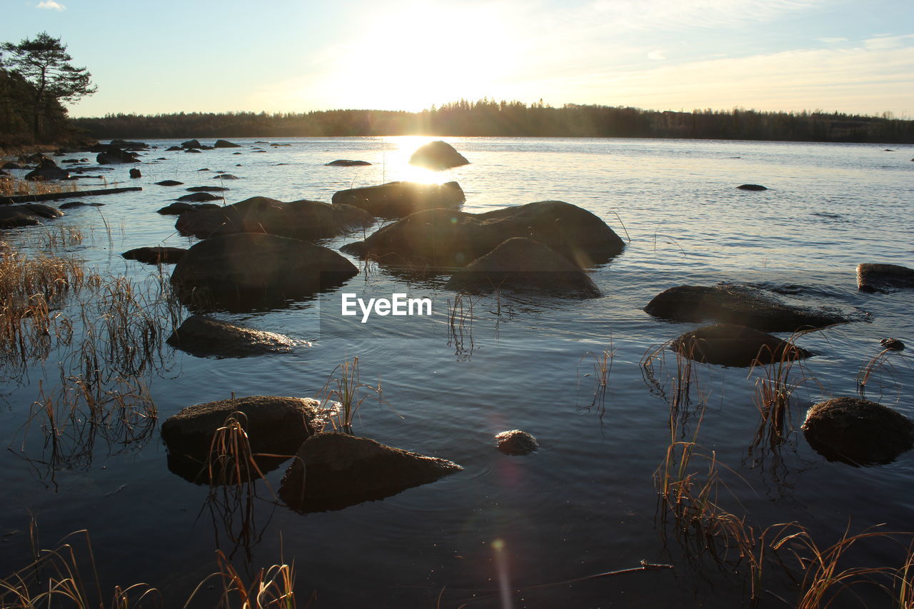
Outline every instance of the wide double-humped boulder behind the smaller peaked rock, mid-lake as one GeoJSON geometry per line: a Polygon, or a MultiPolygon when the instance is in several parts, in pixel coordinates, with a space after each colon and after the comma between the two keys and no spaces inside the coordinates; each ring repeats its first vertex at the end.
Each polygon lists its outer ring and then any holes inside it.
{"type": "Polygon", "coordinates": [[[483,214],[419,211],[343,251],[388,264],[452,268],[466,266],[513,237],[536,240],[580,268],[608,262],[625,247],[590,211],[562,201],[539,201],[483,214]]]}

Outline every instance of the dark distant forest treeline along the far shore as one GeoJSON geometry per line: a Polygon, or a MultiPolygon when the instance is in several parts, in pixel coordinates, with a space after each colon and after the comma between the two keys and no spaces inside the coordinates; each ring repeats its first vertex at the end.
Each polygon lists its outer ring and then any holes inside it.
{"type": "Polygon", "coordinates": [[[671,137],[797,142],[914,143],[914,121],[890,115],[696,110],[658,112],[538,102],[452,102],[422,112],[180,112],[71,119],[92,137],[190,138],[354,135],[671,137]]]}

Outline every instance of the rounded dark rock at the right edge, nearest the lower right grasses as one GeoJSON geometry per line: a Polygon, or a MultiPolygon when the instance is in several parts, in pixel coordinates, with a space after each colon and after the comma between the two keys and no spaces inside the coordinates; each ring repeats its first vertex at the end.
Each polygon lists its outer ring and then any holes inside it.
{"type": "Polygon", "coordinates": [[[801,429],[819,454],[850,465],[887,464],[914,446],[914,423],[908,417],[859,398],[815,404],[801,429]]]}

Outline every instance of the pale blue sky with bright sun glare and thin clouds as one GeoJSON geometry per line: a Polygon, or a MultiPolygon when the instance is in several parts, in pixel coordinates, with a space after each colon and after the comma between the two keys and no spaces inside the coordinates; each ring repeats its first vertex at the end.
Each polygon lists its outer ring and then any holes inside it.
{"type": "Polygon", "coordinates": [[[72,116],[460,99],[914,118],[910,0],[0,0],[98,92],[72,116]]]}

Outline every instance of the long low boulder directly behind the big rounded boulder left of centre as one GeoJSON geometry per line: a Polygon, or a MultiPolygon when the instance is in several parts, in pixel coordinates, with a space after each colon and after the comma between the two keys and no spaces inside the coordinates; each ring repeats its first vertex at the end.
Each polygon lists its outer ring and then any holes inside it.
{"type": "Polygon", "coordinates": [[[218,209],[197,209],[183,214],[175,228],[181,234],[200,239],[239,232],[266,232],[314,240],[361,229],[374,221],[366,211],[348,205],[308,200],[283,203],[274,198],[252,197],[218,209]]]}

